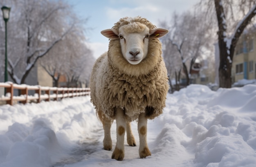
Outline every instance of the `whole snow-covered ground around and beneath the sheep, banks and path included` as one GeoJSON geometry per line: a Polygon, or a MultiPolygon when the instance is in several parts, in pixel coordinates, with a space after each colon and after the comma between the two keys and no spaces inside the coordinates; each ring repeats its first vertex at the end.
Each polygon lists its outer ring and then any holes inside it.
{"type": "MultiPolygon", "coordinates": [[[[113,147],[116,143],[112,125],[113,147]]],[[[256,165],[256,85],[211,91],[202,85],[168,94],[148,121],[152,156],[125,143],[123,161],[103,150],[90,97],[0,106],[0,167],[237,167],[256,165]]]]}

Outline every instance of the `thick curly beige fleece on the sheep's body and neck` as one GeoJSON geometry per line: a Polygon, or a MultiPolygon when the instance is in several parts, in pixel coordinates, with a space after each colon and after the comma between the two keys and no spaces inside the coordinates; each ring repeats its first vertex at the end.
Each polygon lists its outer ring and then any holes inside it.
{"type": "Polygon", "coordinates": [[[146,107],[150,107],[148,119],[162,114],[169,85],[161,55],[161,42],[150,38],[148,55],[139,64],[132,65],[123,57],[119,40],[110,40],[108,53],[97,59],[90,79],[91,101],[97,113],[103,112],[109,119],[115,119],[115,108],[119,107],[125,110],[127,121],[137,120],[146,107]]]}

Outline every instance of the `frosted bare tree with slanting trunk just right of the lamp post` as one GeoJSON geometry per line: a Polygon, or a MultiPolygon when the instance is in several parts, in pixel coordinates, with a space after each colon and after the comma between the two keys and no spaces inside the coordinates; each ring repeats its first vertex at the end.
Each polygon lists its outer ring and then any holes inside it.
{"type": "Polygon", "coordinates": [[[76,24],[69,5],[62,0],[10,0],[8,72],[18,84],[25,80],[36,62],[45,56],[76,24]],[[17,30],[18,27],[18,30],[17,30]]]}

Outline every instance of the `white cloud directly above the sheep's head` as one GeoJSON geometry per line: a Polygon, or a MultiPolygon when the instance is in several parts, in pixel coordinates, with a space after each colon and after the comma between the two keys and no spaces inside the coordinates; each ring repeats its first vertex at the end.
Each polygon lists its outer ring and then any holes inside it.
{"type": "Polygon", "coordinates": [[[141,16],[158,27],[160,21],[171,20],[174,12],[182,13],[193,7],[198,0],[110,0],[106,7],[106,17],[113,24],[120,18],[141,16]]]}

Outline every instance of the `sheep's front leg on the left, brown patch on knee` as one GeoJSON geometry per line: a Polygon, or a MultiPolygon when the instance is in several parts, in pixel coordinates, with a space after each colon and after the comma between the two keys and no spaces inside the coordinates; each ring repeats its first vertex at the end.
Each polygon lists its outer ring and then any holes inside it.
{"type": "Polygon", "coordinates": [[[112,154],[112,159],[123,160],[124,159],[124,134],[126,131],[126,120],[124,116],[124,110],[117,108],[116,110],[116,122],[117,122],[117,145],[112,154]]]}

